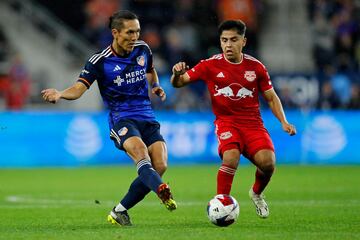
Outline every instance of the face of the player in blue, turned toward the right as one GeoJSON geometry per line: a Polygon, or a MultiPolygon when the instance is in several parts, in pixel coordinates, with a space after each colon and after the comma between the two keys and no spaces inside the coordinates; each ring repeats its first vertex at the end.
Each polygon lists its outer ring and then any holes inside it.
{"type": "Polygon", "coordinates": [[[140,36],[139,20],[127,20],[123,22],[121,29],[112,29],[116,48],[119,54],[128,54],[134,50],[135,42],[140,36]]]}

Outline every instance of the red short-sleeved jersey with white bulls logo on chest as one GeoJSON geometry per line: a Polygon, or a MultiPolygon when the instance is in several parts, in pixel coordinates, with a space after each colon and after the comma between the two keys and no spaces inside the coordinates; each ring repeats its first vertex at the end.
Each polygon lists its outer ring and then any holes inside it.
{"type": "Polygon", "coordinates": [[[202,60],[187,74],[190,81],[206,82],[216,120],[262,125],[259,92],[272,89],[272,84],[259,60],[243,54],[240,63],[231,63],[223,54],[217,54],[202,60]]]}

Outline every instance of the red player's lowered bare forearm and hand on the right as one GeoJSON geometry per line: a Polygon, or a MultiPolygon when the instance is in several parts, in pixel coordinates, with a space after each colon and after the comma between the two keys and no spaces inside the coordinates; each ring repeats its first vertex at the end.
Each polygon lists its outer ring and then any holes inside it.
{"type": "Polygon", "coordinates": [[[282,128],[285,132],[287,132],[290,136],[293,136],[296,134],[296,128],[294,125],[288,123],[285,117],[284,109],[282,107],[280,98],[276,94],[274,89],[270,89],[263,93],[264,98],[269,104],[269,107],[275,117],[279,119],[282,128]]]}

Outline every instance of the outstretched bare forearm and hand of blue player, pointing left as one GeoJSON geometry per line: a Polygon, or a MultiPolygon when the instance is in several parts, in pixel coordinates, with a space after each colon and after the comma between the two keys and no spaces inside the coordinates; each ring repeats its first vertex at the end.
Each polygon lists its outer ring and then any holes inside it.
{"type": "Polygon", "coordinates": [[[43,99],[50,103],[57,103],[61,98],[66,100],[76,100],[83,95],[87,87],[81,83],[76,82],[71,87],[58,91],[55,88],[44,89],[41,91],[43,99]]]}

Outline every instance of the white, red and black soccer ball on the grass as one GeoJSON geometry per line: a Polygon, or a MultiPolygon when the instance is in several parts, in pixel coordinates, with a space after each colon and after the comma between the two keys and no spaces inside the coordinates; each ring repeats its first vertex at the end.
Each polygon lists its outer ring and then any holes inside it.
{"type": "Polygon", "coordinates": [[[240,207],[236,199],[230,195],[219,194],[211,199],[207,206],[209,220],[219,226],[226,227],[238,218],[240,207]]]}

